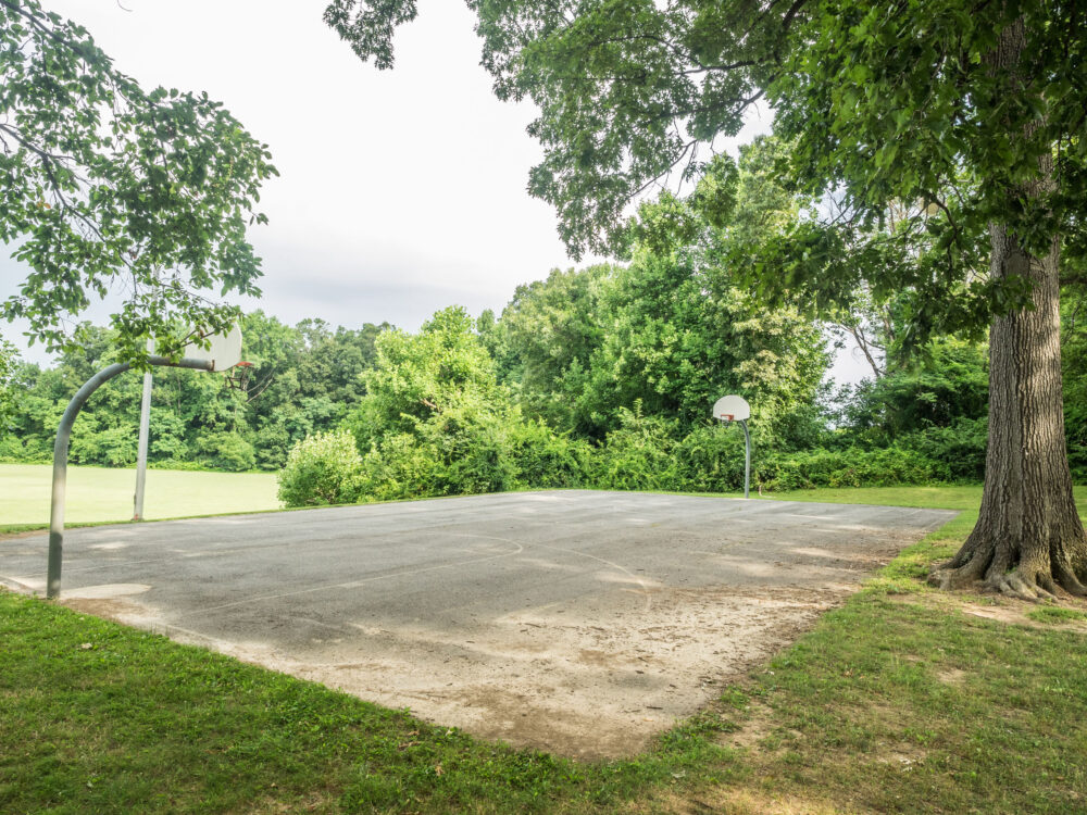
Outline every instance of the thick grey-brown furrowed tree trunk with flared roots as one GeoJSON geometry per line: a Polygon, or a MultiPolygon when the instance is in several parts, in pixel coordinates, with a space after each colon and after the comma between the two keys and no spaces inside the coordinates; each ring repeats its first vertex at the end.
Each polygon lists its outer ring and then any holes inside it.
{"type": "Polygon", "coordinates": [[[1034,284],[1034,309],[989,331],[989,449],[977,526],[933,574],[945,587],[984,580],[1026,599],[1057,586],[1085,595],[1087,537],[1072,496],[1061,385],[1060,244],[1032,258],[1001,226],[990,230],[992,275],[1034,284]]]}

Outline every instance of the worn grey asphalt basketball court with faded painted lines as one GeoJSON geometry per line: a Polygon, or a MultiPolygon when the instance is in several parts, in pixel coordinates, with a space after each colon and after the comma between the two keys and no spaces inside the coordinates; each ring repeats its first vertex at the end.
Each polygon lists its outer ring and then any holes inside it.
{"type": "MultiPolygon", "coordinates": [[[[552,491],[87,527],[62,600],[485,738],[614,756],[955,515],[552,491]]],[[[41,591],[48,536],[0,541],[41,591]]]]}

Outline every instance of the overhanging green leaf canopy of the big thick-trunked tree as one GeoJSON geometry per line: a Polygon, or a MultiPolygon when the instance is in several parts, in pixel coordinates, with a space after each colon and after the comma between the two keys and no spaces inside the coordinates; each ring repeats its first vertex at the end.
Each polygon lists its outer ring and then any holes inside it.
{"type": "MultiPolygon", "coordinates": [[[[353,21],[337,29],[355,52],[389,67],[392,30],[414,2],[334,5],[353,21]]],[[[557,208],[575,253],[621,244],[624,210],[651,183],[713,175],[699,147],[735,135],[764,96],[794,143],[782,166],[838,204],[833,220],[789,224],[775,268],[750,269],[766,294],[829,308],[871,283],[877,299],[905,292],[911,334],[977,328],[1027,293],[1014,275],[976,274],[989,224],[1039,256],[1058,235],[1075,255],[1087,244],[1087,83],[1067,70],[1087,47],[1087,20],[1075,3],[472,5],[496,95],[540,110],[529,133],[544,160],[529,190],[557,208]],[[1008,32],[1023,37],[1013,65],[994,58],[1008,32]],[[1039,159],[1054,154],[1042,189],[1039,159]],[[1032,184],[1030,196],[1014,192],[1032,184]],[[888,233],[896,205],[905,216],[888,233]]]]}

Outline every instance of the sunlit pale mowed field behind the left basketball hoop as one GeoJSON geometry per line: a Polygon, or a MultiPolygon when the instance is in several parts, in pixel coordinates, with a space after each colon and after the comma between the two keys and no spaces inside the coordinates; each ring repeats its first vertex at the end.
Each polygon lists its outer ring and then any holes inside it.
{"type": "MultiPolygon", "coordinates": [[[[0,531],[49,526],[51,464],[0,464],[0,531]]],[[[68,467],[66,524],[130,521],[136,471],[68,467]]],[[[276,510],[273,473],[196,473],[149,469],[148,519],[276,510]]]]}

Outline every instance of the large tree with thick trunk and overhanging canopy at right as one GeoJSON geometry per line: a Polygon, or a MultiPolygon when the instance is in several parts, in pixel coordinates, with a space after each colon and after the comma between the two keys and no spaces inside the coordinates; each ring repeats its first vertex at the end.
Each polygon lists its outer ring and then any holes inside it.
{"type": "MultiPolygon", "coordinates": [[[[751,283],[772,298],[848,302],[869,283],[908,301],[907,339],[989,327],[990,423],[977,526],[934,574],[1037,598],[1087,594],[1087,537],[1064,441],[1059,281],[1087,248],[1087,16],[1075,2],[471,0],[503,99],[541,110],[529,189],[575,252],[614,244],[626,204],[766,98],[794,139],[791,177],[842,201],[801,222],[751,283]],[[891,234],[894,202],[916,202],[891,234]],[[880,237],[861,241],[864,235],[880,237]],[[896,241],[886,267],[855,263],[896,241]],[[851,247],[854,247],[850,250],[851,247]],[[850,250],[850,251],[847,251],[850,250]],[[899,259],[895,261],[895,259],[899,259]],[[871,279],[865,275],[878,274],[871,279]],[[862,274],[863,273],[863,274],[862,274]]],[[[391,64],[413,0],[334,0],[326,18],[391,64]]]]}

